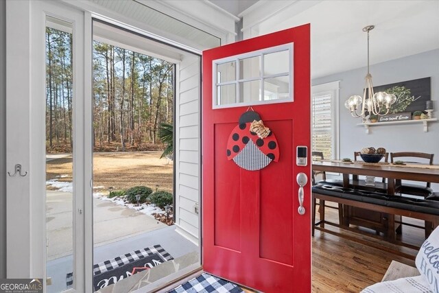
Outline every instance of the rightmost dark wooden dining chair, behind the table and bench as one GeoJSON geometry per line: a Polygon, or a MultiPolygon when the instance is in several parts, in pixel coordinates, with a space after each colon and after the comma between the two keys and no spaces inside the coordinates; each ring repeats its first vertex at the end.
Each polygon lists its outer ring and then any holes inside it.
{"type": "MultiPolygon", "coordinates": [[[[425,152],[391,152],[390,153],[390,163],[394,163],[395,161],[404,161],[406,164],[418,164],[418,163],[427,163],[428,165],[433,165],[433,157],[434,154],[428,154],[425,152]],[[404,160],[399,160],[399,158],[403,158],[404,160]]],[[[433,189],[431,189],[431,183],[426,182],[425,185],[417,185],[410,183],[402,183],[402,180],[395,180],[396,185],[396,193],[401,194],[401,196],[410,195],[410,196],[420,196],[422,198],[426,198],[430,194],[433,193],[433,189]]],[[[395,220],[396,222],[396,220],[395,220]]],[[[416,226],[412,224],[403,223],[401,219],[401,225],[396,229],[397,234],[402,233],[402,225],[416,226]]],[[[418,228],[425,229],[425,237],[431,232],[433,228],[433,223],[424,221],[424,227],[416,226],[418,228]]]]}

